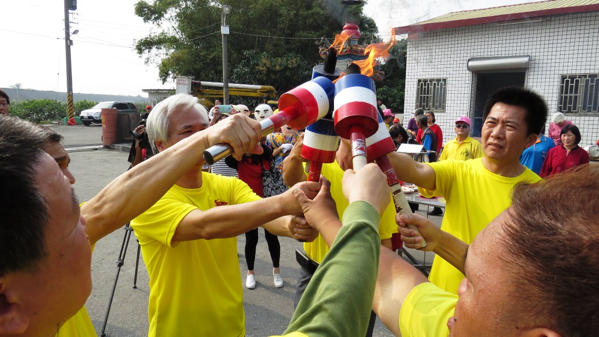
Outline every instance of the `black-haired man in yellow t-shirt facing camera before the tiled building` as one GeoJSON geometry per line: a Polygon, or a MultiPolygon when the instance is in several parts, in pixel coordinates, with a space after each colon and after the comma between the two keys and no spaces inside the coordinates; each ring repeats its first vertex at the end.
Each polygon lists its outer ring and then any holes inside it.
{"type": "MultiPolygon", "coordinates": [[[[539,94],[524,88],[504,88],[489,97],[483,110],[484,157],[416,163],[408,155],[394,152],[389,159],[402,181],[423,188],[422,195],[445,197],[441,229],[471,243],[495,216],[509,207],[510,192],[516,183],[540,180],[522,166],[519,157],[536,142],[546,121],[547,105],[539,94]]],[[[455,294],[462,278],[459,270],[435,257],[431,282],[455,294]]]]}

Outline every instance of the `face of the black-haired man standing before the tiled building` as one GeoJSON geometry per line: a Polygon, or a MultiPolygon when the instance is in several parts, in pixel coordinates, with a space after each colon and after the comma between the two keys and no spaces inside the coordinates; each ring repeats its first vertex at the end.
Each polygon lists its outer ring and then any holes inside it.
{"type": "Polygon", "coordinates": [[[518,161],[522,151],[537,141],[536,134],[527,134],[522,107],[495,103],[482,127],[485,157],[493,161],[518,161]]]}

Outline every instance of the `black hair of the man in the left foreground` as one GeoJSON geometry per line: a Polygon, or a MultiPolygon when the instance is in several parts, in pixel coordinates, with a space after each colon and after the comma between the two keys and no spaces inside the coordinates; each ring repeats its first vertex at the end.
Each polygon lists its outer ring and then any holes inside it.
{"type": "Polygon", "coordinates": [[[46,256],[46,200],[35,185],[44,154],[40,128],[0,117],[0,276],[37,266],[46,256]]]}

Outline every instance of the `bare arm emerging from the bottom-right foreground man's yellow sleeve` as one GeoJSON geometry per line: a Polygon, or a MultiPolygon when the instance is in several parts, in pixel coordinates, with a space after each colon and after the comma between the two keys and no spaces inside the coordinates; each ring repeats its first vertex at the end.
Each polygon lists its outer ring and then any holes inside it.
{"type": "Polygon", "coordinates": [[[401,336],[399,326],[401,305],[410,291],[423,282],[428,281],[415,267],[395,252],[381,247],[373,311],[395,336],[401,336]]]}

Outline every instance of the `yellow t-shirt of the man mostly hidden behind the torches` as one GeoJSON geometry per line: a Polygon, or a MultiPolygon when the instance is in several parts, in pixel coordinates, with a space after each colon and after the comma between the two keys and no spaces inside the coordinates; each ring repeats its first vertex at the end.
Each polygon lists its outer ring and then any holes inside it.
{"type": "MultiPolygon", "coordinates": [[[[343,186],[341,185],[341,180],[343,180],[343,170],[341,170],[337,160],[335,160],[334,163],[323,164],[320,174],[325,176],[325,178],[331,182],[331,195],[337,204],[337,213],[341,219],[343,218],[343,212],[345,212],[345,209],[349,205],[343,195],[343,186]]],[[[387,192],[391,194],[389,190],[387,192]]],[[[380,239],[389,239],[393,233],[397,233],[397,224],[395,223],[395,205],[393,204],[393,201],[391,201],[389,206],[385,209],[383,216],[380,218],[380,239]]],[[[329,246],[326,245],[325,240],[322,239],[322,236],[319,234],[313,242],[304,243],[304,250],[308,257],[317,263],[320,263],[322,262],[322,259],[325,258],[326,253],[329,252],[329,246]]]]}

